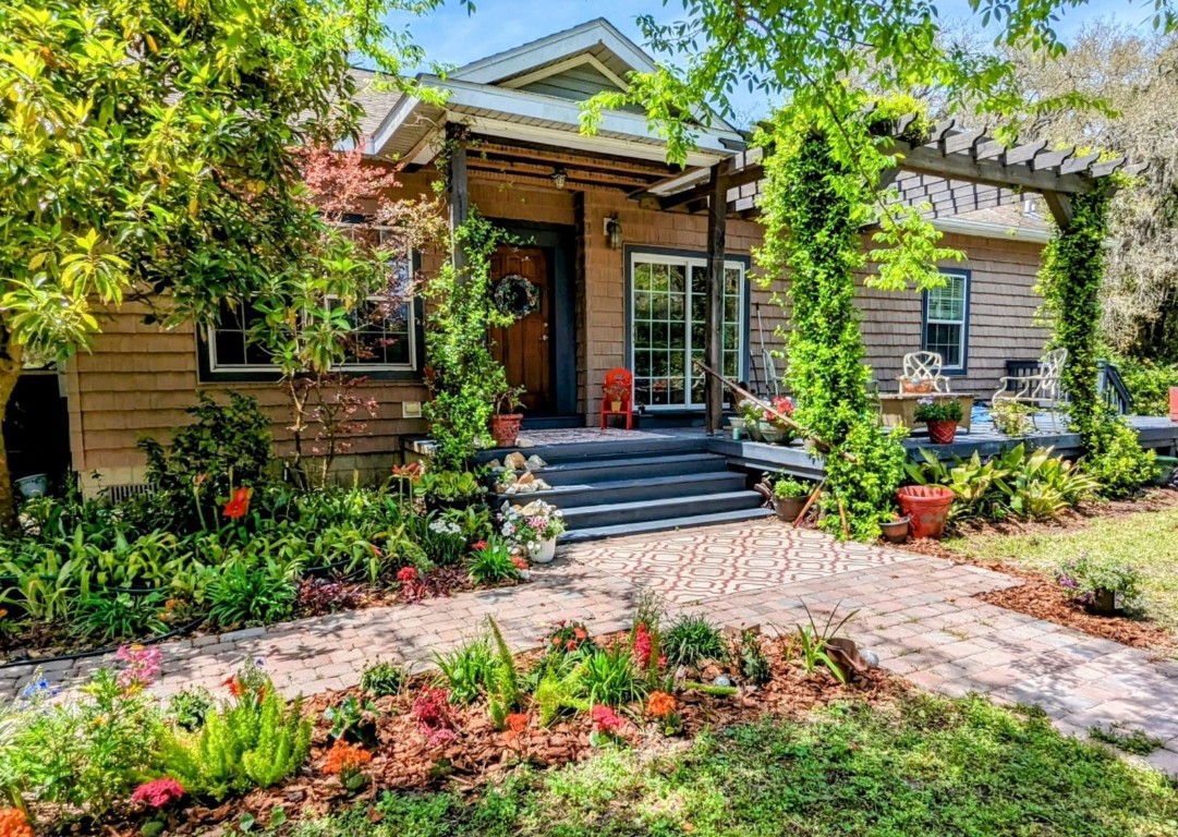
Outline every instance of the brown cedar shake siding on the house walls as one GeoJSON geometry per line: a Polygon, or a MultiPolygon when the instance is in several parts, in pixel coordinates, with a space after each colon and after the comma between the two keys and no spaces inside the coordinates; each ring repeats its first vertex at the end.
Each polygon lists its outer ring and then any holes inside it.
{"type": "MultiPolygon", "coordinates": [[[[421,172],[403,177],[403,193],[430,195],[432,176],[421,172]]],[[[548,186],[519,185],[509,176],[471,172],[471,204],[487,217],[518,222],[561,224],[576,230],[571,261],[573,299],[576,307],[577,410],[595,424],[601,404],[604,374],[626,365],[626,246],[651,246],[706,255],[704,216],[661,213],[647,210],[611,189],[558,191],[548,186]],[[609,249],[604,219],[616,213],[622,225],[623,249],[609,249]]],[[[728,252],[749,256],[760,242],[760,228],[752,220],[728,223],[728,252]]],[[[1040,245],[1014,240],[946,237],[948,246],[968,251],[961,266],[972,271],[968,376],[954,388],[988,397],[1004,374],[1007,358],[1037,357],[1046,335],[1031,323],[1038,304],[1032,285],[1038,270],[1040,245]]],[[[441,253],[423,253],[426,273],[437,269],[441,253]]],[[[772,291],[761,289],[749,273],[752,302],[761,304],[765,340],[782,348],[774,335],[785,324],[785,314],[773,304],[772,291]]],[[[775,290],[785,283],[776,281],[775,290]]],[[[920,348],[921,302],[915,294],[882,294],[865,290],[863,336],[868,362],[885,391],[895,388],[905,352],[920,348]]],[[[755,308],[750,308],[749,345],[752,378],[765,384],[755,308]]],[[[421,350],[421,347],[419,347],[421,350]]],[[[785,361],[777,361],[779,373],[785,361]]],[[[104,485],[144,481],[144,457],[135,448],[140,436],[166,441],[185,423],[184,413],[198,390],[229,388],[254,395],[272,416],[279,452],[289,449],[290,416],[285,398],[274,383],[200,383],[197,371],[197,340],[191,325],[161,332],[143,324],[143,311],[133,307],[110,316],[93,351],[71,361],[65,370],[68,393],[71,444],[77,470],[100,472],[104,485]]],[[[399,461],[401,437],[422,435],[422,420],[406,420],[402,402],[424,401],[424,387],[415,382],[372,381],[368,389],[379,403],[379,415],[366,434],[353,440],[353,450],[338,460],[340,477],[351,479],[353,468],[362,477],[383,476],[399,461]]],[[[91,480],[85,480],[93,490],[91,480]]]]}

